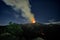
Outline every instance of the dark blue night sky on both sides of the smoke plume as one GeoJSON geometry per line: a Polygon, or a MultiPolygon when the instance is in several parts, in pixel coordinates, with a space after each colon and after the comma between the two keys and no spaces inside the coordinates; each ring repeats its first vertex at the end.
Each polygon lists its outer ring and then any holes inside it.
{"type": "MultiPolygon", "coordinates": [[[[58,0],[30,0],[31,12],[35,15],[37,22],[46,23],[48,20],[60,21],[60,5],[58,0]]],[[[26,23],[27,20],[0,0],[0,25],[15,23],[26,23]]]]}

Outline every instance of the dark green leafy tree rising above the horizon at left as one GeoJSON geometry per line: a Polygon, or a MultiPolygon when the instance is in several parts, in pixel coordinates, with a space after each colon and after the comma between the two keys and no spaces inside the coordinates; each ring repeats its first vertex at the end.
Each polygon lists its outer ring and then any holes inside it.
{"type": "Polygon", "coordinates": [[[20,35],[22,34],[23,30],[20,25],[16,23],[9,22],[8,27],[6,28],[7,32],[13,34],[13,35],[20,35]]]}

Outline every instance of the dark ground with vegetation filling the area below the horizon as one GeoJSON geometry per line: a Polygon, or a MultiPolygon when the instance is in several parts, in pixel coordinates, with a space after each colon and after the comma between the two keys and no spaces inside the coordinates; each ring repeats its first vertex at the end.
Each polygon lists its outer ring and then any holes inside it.
{"type": "Polygon", "coordinates": [[[58,40],[59,32],[60,25],[58,24],[15,24],[10,22],[9,25],[0,26],[0,40],[58,40]]]}

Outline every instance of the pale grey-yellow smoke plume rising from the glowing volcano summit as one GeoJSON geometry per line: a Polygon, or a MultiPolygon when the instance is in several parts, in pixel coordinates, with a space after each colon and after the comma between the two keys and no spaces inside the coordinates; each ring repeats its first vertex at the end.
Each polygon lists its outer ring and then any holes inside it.
{"type": "Polygon", "coordinates": [[[31,12],[31,5],[29,0],[3,0],[7,5],[13,7],[14,10],[21,10],[22,16],[31,21],[34,18],[34,15],[31,12]]]}

